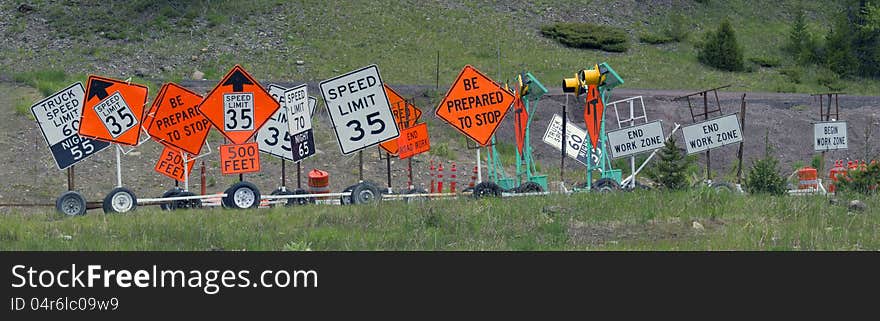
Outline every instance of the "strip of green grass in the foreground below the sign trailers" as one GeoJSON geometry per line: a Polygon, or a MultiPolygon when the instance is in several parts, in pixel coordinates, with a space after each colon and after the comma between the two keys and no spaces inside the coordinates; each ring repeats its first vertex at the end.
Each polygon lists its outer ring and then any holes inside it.
{"type": "Polygon", "coordinates": [[[877,250],[880,199],[688,192],[0,216],[0,250],[877,250]],[[702,229],[694,228],[694,222],[702,229]]]}

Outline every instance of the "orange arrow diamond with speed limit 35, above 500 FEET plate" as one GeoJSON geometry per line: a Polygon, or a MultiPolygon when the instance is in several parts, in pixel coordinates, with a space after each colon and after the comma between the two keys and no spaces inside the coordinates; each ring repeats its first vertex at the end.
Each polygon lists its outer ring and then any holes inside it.
{"type": "Polygon", "coordinates": [[[229,138],[242,144],[254,136],[281,105],[241,66],[235,65],[214,87],[199,111],[229,138]]]}

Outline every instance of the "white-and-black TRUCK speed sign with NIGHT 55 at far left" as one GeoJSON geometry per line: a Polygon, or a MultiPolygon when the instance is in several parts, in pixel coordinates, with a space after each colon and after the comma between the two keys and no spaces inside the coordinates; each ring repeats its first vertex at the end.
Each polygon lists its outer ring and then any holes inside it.
{"type": "Polygon", "coordinates": [[[77,134],[84,97],[82,84],[75,83],[31,106],[58,169],[68,168],[110,146],[77,134]]]}

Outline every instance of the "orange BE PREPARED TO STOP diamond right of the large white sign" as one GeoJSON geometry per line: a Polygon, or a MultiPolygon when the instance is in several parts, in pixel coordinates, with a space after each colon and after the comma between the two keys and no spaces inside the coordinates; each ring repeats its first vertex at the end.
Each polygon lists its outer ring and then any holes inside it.
{"type": "Polygon", "coordinates": [[[512,103],[512,93],[467,65],[458,74],[434,114],[485,146],[512,103]]]}

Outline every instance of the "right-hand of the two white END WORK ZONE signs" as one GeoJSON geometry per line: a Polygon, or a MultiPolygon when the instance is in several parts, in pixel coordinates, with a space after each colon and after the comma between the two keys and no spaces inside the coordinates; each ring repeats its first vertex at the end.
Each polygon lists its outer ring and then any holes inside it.
{"type": "Polygon", "coordinates": [[[702,123],[682,127],[688,154],[739,143],[743,140],[737,114],[713,118],[702,123]]]}

